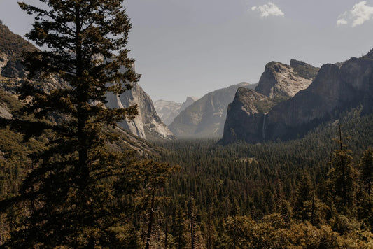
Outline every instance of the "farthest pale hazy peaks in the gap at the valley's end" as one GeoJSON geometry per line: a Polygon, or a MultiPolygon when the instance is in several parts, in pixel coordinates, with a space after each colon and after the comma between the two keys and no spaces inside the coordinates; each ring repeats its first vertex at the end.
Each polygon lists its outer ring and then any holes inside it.
{"type": "Polygon", "coordinates": [[[157,100],[154,102],[155,111],[165,125],[170,125],[174,118],[188,106],[197,101],[196,97],[187,97],[183,103],[175,101],[157,100]]]}

